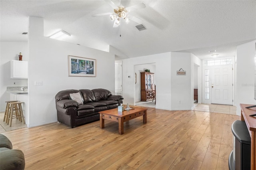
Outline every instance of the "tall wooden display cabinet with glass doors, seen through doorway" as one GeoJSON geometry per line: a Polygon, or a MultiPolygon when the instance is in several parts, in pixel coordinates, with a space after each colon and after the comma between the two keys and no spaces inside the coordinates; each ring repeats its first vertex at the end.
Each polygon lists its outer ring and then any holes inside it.
{"type": "Polygon", "coordinates": [[[152,84],[154,83],[154,73],[140,73],[140,100],[150,101],[153,99],[152,84]]]}

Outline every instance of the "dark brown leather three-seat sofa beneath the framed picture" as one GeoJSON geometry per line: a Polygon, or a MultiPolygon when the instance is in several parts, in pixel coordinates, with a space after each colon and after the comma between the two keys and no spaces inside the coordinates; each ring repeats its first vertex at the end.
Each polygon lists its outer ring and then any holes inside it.
{"type": "Polygon", "coordinates": [[[117,108],[123,103],[121,95],[112,95],[106,89],[63,90],[56,94],[57,118],[71,128],[100,120],[98,112],[117,108]],[[70,94],[80,93],[83,103],[71,99],[70,94]]]}

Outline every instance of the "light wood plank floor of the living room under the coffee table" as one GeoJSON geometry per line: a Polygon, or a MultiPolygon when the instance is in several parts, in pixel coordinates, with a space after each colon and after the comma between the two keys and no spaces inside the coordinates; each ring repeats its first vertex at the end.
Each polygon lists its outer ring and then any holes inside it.
{"type": "Polygon", "coordinates": [[[105,120],[76,128],[64,124],[2,132],[24,152],[26,170],[228,170],[236,115],[148,108],[147,123],[105,120]]]}

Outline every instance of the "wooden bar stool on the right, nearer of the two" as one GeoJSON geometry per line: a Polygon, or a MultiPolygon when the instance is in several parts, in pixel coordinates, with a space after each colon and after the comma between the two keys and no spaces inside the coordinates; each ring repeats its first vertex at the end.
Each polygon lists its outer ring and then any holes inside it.
{"type": "Polygon", "coordinates": [[[10,123],[10,127],[12,126],[12,119],[15,118],[14,114],[16,115],[16,119],[19,119],[19,121],[23,121],[25,124],[25,119],[22,111],[22,106],[21,104],[24,102],[21,101],[16,101],[16,102],[10,102],[10,111],[8,115],[8,121],[7,125],[10,123]]]}

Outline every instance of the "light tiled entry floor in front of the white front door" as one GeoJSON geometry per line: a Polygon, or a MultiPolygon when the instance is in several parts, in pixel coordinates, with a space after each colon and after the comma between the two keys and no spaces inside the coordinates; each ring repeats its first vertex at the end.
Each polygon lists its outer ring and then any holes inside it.
{"type": "Polygon", "coordinates": [[[224,113],[228,115],[236,115],[236,106],[232,105],[218,105],[218,104],[204,104],[194,103],[195,107],[193,111],[204,111],[213,113],[224,113]]]}

